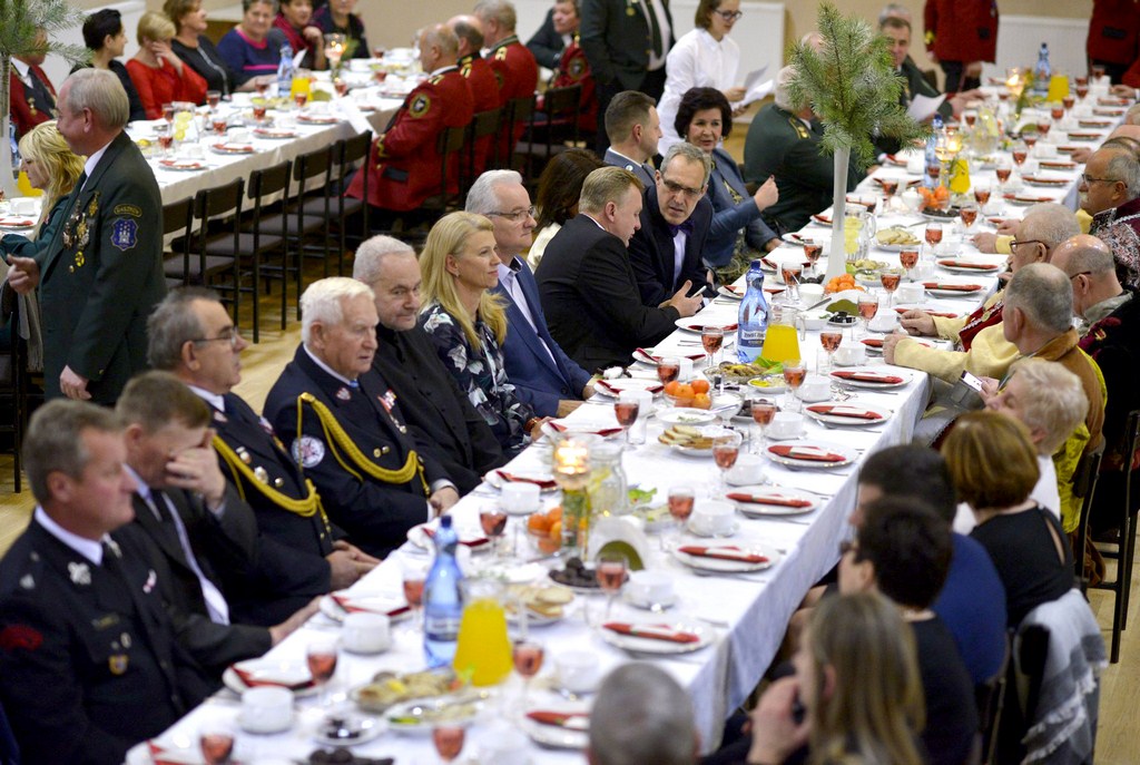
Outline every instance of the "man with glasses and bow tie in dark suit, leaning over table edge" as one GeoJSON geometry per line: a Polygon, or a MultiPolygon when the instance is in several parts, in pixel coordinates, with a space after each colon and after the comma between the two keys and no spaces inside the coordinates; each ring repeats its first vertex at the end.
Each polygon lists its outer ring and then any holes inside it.
{"type": "Polygon", "coordinates": [[[692,144],[674,144],[665,154],[653,186],[645,189],[641,228],[629,239],[629,262],[646,306],[661,306],[684,284],[711,296],[701,263],[712,223],[712,203],[705,196],[712,164],[692,144]]]}

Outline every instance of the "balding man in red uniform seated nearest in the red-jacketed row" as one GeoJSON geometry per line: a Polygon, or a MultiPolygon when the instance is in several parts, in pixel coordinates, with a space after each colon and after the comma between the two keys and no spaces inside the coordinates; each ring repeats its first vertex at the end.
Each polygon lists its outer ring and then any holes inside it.
{"type": "MultiPolygon", "coordinates": [[[[437,141],[445,128],[462,128],[473,113],[471,88],[456,66],[458,40],[446,24],[430,26],[420,35],[420,64],[429,78],[400,106],[373,144],[368,172],[368,204],[394,212],[420,207],[440,192],[440,156],[437,141]]],[[[458,188],[458,166],[448,170],[448,190],[458,188]]],[[[365,172],[365,170],[361,170],[365,172]]],[[[364,178],[358,172],[348,196],[360,200],[364,178]]]]}

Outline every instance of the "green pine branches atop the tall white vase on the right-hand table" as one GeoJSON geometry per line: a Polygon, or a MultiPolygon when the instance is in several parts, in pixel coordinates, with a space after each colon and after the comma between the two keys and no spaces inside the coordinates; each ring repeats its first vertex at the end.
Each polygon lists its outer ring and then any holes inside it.
{"type": "Polygon", "coordinates": [[[876,133],[907,143],[927,128],[898,105],[903,80],[895,72],[886,38],[856,16],[844,16],[831,2],[820,6],[819,52],[792,44],[796,74],[788,82],[793,104],[811,104],[823,123],[823,149],[847,149],[861,164],[874,158],[876,133]]]}

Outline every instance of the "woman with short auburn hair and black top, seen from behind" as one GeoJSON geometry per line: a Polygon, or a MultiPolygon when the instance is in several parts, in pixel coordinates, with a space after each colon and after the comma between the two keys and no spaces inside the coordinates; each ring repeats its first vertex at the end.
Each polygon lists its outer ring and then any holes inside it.
{"type": "Polygon", "coordinates": [[[994,412],[969,412],[946,437],[946,458],[958,496],[974,511],[970,537],[990,553],[1005,586],[1008,625],[1073,588],[1073,551],[1057,518],[1029,493],[1037,454],[1028,429],[994,412]]]}

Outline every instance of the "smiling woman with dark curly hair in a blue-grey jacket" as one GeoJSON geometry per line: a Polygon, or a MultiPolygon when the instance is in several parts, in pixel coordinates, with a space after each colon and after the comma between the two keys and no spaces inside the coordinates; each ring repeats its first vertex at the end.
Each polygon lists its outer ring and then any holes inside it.
{"type": "Polygon", "coordinates": [[[732,135],[732,108],[716,88],[693,88],[685,92],[674,125],[685,141],[712,160],[707,193],[712,203],[712,225],[702,260],[718,271],[727,269],[724,280],[731,283],[748,270],[752,258],[759,257],[757,252],[772,252],[780,246],[780,237],[760,217],[780,198],[776,182],[768,178],[754,194],[748,193],[740,165],[722,146],[722,140],[732,135]]]}

